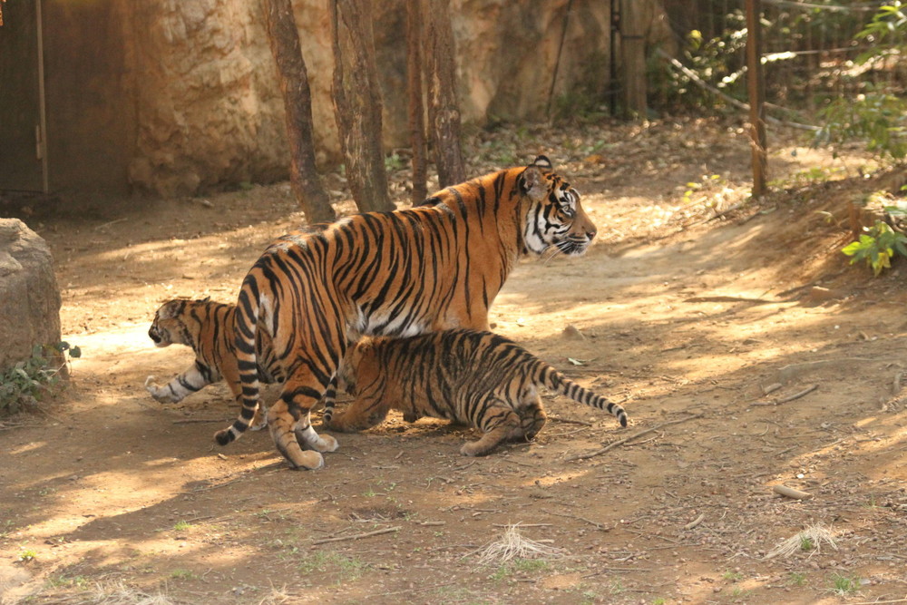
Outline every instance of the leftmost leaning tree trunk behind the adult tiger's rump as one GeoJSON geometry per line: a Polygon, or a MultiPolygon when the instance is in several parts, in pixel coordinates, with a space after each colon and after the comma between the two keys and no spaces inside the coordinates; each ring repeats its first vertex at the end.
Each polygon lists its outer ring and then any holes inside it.
{"type": "Polygon", "coordinates": [[[315,168],[312,138],[312,95],[299,46],[299,31],[290,0],[264,0],[268,44],[278,66],[289,143],[289,181],[299,206],[310,223],[336,219],[327,191],[315,168]]]}

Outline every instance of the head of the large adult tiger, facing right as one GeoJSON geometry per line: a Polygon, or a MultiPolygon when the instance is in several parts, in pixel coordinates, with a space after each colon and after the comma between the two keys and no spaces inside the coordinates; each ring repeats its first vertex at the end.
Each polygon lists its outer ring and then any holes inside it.
{"type": "Polygon", "coordinates": [[[543,155],[523,169],[517,186],[532,201],[523,225],[526,249],[541,254],[552,246],[568,256],[583,254],[595,238],[595,225],[580,206],[580,193],[555,174],[543,155]]]}

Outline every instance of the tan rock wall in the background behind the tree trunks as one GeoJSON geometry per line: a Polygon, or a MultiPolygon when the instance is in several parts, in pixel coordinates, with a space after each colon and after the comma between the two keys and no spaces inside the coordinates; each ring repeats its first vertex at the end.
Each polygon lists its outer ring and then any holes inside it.
{"type": "MultiPolygon", "coordinates": [[[[258,3],[114,1],[132,12],[124,25],[135,72],[132,184],[179,195],[224,182],[286,178],[283,107],[258,3]]],[[[609,2],[451,4],[463,122],[538,120],[561,95],[602,93],[609,85],[609,2]]],[[[326,165],[339,160],[327,3],[296,0],[295,8],[317,158],[326,165]]],[[[405,5],[375,3],[374,18],[385,146],[406,146],[405,5]]]]}

